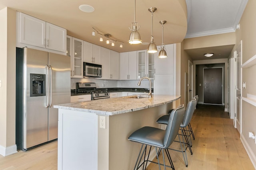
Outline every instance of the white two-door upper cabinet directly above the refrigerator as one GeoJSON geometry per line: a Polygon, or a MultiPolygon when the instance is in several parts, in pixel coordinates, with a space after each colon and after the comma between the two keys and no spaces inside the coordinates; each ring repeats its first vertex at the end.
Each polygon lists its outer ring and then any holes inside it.
{"type": "Polygon", "coordinates": [[[20,13],[19,43],[66,52],[66,29],[20,13]]]}

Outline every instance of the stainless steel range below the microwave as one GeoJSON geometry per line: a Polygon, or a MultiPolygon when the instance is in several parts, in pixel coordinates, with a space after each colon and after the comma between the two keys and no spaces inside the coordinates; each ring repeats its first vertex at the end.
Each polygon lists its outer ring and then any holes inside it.
{"type": "Polygon", "coordinates": [[[96,89],[95,83],[76,83],[77,92],[84,92],[91,94],[91,100],[110,98],[109,92],[96,89]]]}

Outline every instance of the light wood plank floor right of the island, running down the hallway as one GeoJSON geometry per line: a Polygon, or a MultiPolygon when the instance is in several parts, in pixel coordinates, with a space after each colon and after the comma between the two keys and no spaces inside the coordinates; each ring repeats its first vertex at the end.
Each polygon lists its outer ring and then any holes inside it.
{"type": "MultiPolygon", "coordinates": [[[[190,123],[195,135],[193,155],[187,149],[186,168],[182,153],[171,150],[176,170],[254,170],[224,106],[198,104],[190,123]]],[[[177,144],[172,143],[171,148],[178,149],[177,144]]],[[[150,164],[147,170],[158,170],[158,165],[150,164]]]]}

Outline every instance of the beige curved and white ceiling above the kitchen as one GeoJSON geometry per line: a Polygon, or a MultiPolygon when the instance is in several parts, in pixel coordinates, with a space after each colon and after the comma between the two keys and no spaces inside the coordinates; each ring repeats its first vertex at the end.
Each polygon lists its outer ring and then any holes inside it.
{"type": "MultiPolygon", "coordinates": [[[[140,25],[142,41],[150,42],[152,18],[148,8],[156,7],[153,18],[153,35],[156,45],[162,43],[164,25],[164,43],[180,43],[185,38],[227,33],[236,30],[248,0],[136,0],[136,21],[140,25]],[[187,18],[188,13],[188,18],[187,18]]],[[[131,23],[134,22],[133,0],[0,0],[0,9],[9,7],[41,20],[67,29],[68,35],[77,37],[118,52],[146,49],[148,45],[130,45],[131,23]],[[81,4],[95,8],[92,13],[78,9],[81,4]],[[92,36],[92,27],[112,35],[112,38],[124,42],[114,47],[106,45],[106,37],[100,42],[100,35],[92,36]]],[[[210,47],[209,47],[210,48],[210,47]]],[[[210,49],[207,50],[210,50],[210,49]]],[[[212,47],[213,53],[230,53],[231,47],[212,47]],[[217,51],[221,49],[220,51],[217,51]],[[228,49],[225,50],[225,49],[228,49]],[[214,52],[216,51],[216,52],[214,52]]],[[[186,50],[196,60],[198,54],[206,49],[186,50]]]]}

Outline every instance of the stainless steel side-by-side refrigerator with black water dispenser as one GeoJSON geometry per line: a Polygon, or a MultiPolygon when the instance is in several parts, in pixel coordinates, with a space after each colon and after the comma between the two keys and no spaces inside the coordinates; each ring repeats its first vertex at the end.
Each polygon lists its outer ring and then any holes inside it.
{"type": "Polygon", "coordinates": [[[16,48],[16,145],[28,150],[58,138],[58,109],[70,103],[70,57],[16,48]]]}

